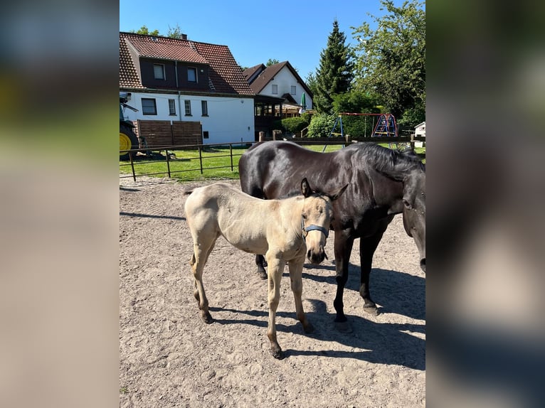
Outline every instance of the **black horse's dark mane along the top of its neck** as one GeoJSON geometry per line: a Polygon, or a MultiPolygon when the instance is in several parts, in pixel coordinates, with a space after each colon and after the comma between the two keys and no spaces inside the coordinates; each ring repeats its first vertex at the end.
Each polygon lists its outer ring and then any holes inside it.
{"type": "MultiPolygon", "coordinates": [[[[358,144],[359,145],[359,144],[358,144]]],[[[408,173],[415,169],[425,171],[425,165],[411,149],[388,149],[374,143],[362,143],[359,151],[366,163],[381,173],[408,173]]]]}

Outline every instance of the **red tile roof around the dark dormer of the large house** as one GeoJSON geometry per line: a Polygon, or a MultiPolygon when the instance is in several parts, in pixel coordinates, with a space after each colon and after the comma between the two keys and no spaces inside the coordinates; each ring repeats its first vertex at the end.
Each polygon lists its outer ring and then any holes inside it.
{"type": "Polygon", "coordinates": [[[139,56],[208,64],[207,93],[254,95],[226,45],[120,32],[120,87],[144,88],[134,60],[139,56]]]}

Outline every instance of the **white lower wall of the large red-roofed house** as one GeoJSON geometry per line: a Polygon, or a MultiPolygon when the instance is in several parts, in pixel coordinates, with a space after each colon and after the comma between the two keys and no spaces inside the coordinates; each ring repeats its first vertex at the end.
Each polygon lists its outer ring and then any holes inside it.
{"type": "Polygon", "coordinates": [[[138,109],[138,112],[125,109],[125,119],[132,121],[140,119],[201,122],[203,132],[208,131],[208,139],[203,139],[203,144],[255,141],[253,98],[132,92],[127,104],[138,109]],[[155,99],[157,115],[142,114],[142,98],[155,99]],[[169,114],[169,99],[175,101],[176,116],[169,114]],[[191,116],[185,115],[185,100],[191,100],[191,116]],[[201,114],[203,100],[206,100],[208,105],[207,117],[201,114]]]}

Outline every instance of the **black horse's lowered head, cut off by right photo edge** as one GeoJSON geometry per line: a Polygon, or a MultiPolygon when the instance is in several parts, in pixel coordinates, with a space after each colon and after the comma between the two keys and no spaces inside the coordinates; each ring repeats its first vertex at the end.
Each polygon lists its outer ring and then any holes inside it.
{"type": "Polygon", "coordinates": [[[412,171],[403,180],[403,226],[416,243],[425,272],[425,171],[412,171]]]}

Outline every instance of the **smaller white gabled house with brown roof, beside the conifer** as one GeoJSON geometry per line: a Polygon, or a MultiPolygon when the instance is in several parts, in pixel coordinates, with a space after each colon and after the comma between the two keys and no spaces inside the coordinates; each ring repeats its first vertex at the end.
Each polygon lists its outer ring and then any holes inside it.
{"type": "Polygon", "coordinates": [[[275,120],[300,116],[302,111],[312,109],[312,92],[288,61],[269,67],[255,65],[244,70],[243,75],[255,93],[256,133],[268,133],[275,120]]]}

